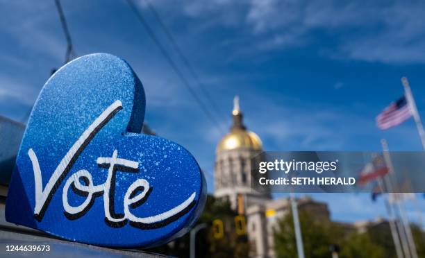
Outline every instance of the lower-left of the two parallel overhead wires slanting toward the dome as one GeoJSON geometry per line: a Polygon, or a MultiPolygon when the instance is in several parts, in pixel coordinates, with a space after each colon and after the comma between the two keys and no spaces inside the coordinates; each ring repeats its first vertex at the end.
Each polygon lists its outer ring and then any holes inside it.
{"type": "Polygon", "coordinates": [[[194,91],[194,89],[190,85],[189,81],[186,79],[186,77],[184,76],[184,74],[182,73],[182,71],[178,68],[178,66],[176,65],[176,63],[174,62],[174,60],[171,58],[171,56],[169,55],[169,53],[167,52],[167,50],[165,49],[165,47],[163,46],[163,44],[160,42],[160,40],[158,40],[158,37],[156,37],[156,34],[153,32],[151,26],[149,26],[149,24],[147,23],[147,21],[144,19],[144,17],[142,15],[142,13],[140,12],[140,10],[138,10],[138,8],[135,6],[135,4],[133,3],[133,1],[127,0],[127,3],[128,3],[128,6],[130,6],[131,10],[134,12],[135,16],[138,17],[139,22],[143,25],[143,27],[147,31],[149,37],[151,37],[151,39],[156,44],[156,46],[158,46],[158,49],[160,49],[160,52],[164,55],[165,60],[167,60],[167,62],[169,63],[169,65],[172,67],[172,69],[176,72],[176,74],[178,75],[178,77],[183,82],[183,85],[185,85],[185,87],[188,89],[188,91],[190,92],[190,94],[193,96],[193,98],[195,99],[195,101],[197,102],[197,104],[199,105],[199,107],[201,107],[201,110],[206,114],[206,117],[208,117],[208,119],[210,119],[210,121],[219,130],[221,130],[222,128],[220,128],[219,123],[217,123],[217,120],[215,119],[215,117],[213,116],[213,114],[211,114],[210,110],[208,110],[208,107],[206,107],[206,105],[204,105],[204,103],[201,101],[201,98],[199,98],[197,92],[194,91]]]}

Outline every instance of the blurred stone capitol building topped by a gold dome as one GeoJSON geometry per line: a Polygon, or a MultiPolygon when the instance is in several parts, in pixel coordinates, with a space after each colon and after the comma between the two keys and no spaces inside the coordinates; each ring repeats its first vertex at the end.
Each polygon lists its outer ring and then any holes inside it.
{"type": "MultiPolygon", "coordinates": [[[[214,196],[227,200],[231,208],[246,217],[250,257],[275,257],[273,232],[277,219],[290,212],[289,198],[272,198],[267,189],[251,187],[251,161],[260,158],[263,144],[255,132],[247,130],[243,122],[238,97],[232,111],[233,124],[216,149],[214,196]]],[[[297,200],[299,209],[329,219],[326,203],[304,197],[297,200]]]]}

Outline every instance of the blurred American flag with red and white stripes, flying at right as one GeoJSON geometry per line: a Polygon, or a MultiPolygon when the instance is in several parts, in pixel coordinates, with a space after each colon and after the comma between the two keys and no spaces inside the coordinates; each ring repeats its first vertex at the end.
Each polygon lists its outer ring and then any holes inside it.
{"type": "Polygon", "coordinates": [[[406,96],[402,96],[397,101],[387,106],[381,114],[378,114],[378,117],[376,117],[376,125],[378,128],[385,130],[398,126],[410,117],[412,117],[412,110],[410,110],[408,102],[406,101],[406,96]]]}

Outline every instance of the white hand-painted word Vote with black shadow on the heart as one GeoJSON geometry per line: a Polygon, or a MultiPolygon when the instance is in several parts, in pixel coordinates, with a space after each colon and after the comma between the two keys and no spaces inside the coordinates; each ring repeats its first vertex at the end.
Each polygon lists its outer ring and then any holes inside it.
{"type": "MultiPolygon", "coordinates": [[[[78,138],[74,145],[66,153],[65,157],[60,161],[56,170],[51,175],[44,189],[42,188],[42,173],[37,155],[32,148],[28,150],[28,156],[33,164],[35,179],[35,208],[34,217],[38,221],[42,221],[44,212],[56,190],[64,180],[67,172],[72,169],[74,161],[83,151],[85,146],[93,139],[94,135],[112,119],[119,110],[122,110],[121,101],[115,101],[102,114],[94,120],[85,132],[78,138]]],[[[118,151],[114,150],[112,157],[98,157],[97,164],[102,168],[108,169],[106,181],[103,184],[94,185],[92,175],[89,171],[81,169],[69,176],[63,187],[62,201],[65,209],[65,216],[69,219],[76,219],[84,216],[92,207],[94,200],[103,196],[103,207],[105,213],[105,222],[110,227],[122,227],[127,221],[135,227],[151,227],[154,225],[164,225],[167,221],[181,214],[194,203],[196,192],[192,193],[189,198],[180,205],[167,210],[155,216],[138,217],[135,216],[130,207],[138,207],[149,196],[149,182],[144,179],[138,179],[128,187],[124,195],[124,214],[115,214],[114,211],[114,193],[115,181],[117,173],[134,173],[138,172],[139,163],[118,157],[118,151]],[[81,183],[81,180],[84,184],[81,183]],[[68,190],[72,187],[74,193],[85,197],[83,203],[78,206],[72,206],[68,200],[68,190]]]]}

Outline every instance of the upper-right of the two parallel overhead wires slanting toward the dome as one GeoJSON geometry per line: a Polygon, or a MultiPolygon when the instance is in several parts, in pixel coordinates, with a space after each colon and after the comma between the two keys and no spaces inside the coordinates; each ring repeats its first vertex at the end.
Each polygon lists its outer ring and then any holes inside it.
{"type": "MultiPolygon", "coordinates": [[[[199,85],[199,88],[201,88],[203,95],[211,103],[211,105],[213,105],[215,110],[217,110],[217,113],[224,114],[224,113],[222,113],[222,110],[220,110],[219,105],[217,105],[217,103],[214,101],[214,98],[212,98],[211,95],[209,94],[209,92],[207,91],[205,85],[203,83],[201,83],[201,80],[199,79],[197,72],[195,71],[193,66],[190,64],[189,59],[186,58],[186,56],[183,54],[183,51],[181,51],[176,40],[174,40],[172,33],[169,31],[169,29],[167,28],[167,26],[163,22],[163,19],[160,17],[159,13],[156,11],[156,8],[153,6],[151,1],[148,0],[148,1],[146,1],[146,3],[147,3],[147,6],[149,7],[149,10],[151,10],[151,12],[153,13],[153,17],[155,17],[156,21],[158,22],[160,27],[163,29],[165,35],[167,35],[169,42],[172,43],[174,50],[176,51],[178,56],[181,58],[181,60],[183,60],[183,63],[188,68],[188,71],[190,72],[190,74],[194,78],[195,82],[199,85]]],[[[220,117],[221,117],[221,115],[220,115],[220,117]]]]}

